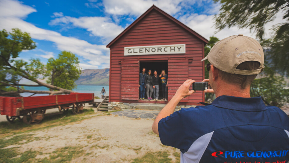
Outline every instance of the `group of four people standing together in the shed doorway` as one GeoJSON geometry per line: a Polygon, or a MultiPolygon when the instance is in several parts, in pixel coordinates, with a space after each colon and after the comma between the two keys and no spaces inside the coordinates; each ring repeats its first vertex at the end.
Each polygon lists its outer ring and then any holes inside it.
{"type": "Polygon", "coordinates": [[[159,99],[159,81],[161,81],[162,93],[164,101],[168,99],[168,74],[165,70],[161,71],[158,75],[157,71],[148,70],[148,74],[145,73],[146,69],[143,68],[140,73],[140,100],[144,100],[144,93],[146,92],[148,100],[158,101],[159,99]],[[153,98],[152,98],[153,93],[153,98]]]}

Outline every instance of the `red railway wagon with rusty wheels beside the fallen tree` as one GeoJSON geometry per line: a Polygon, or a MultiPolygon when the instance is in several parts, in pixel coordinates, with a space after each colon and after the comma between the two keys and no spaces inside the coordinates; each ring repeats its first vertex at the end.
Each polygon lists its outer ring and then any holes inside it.
{"type": "Polygon", "coordinates": [[[65,112],[72,108],[73,114],[83,110],[83,104],[94,101],[94,93],[70,93],[54,96],[35,97],[0,97],[1,115],[6,115],[9,122],[15,118],[24,123],[39,123],[44,117],[46,109],[57,108],[65,112]],[[21,118],[21,117],[22,118],[21,118]]]}

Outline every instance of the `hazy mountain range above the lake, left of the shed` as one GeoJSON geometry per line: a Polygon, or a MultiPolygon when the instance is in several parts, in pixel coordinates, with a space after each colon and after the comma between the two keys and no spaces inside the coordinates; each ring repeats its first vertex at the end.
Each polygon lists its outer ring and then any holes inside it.
{"type": "Polygon", "coordinates": [[[109,85],[109,68],[81,70],[80,77],[75,81],[77,85],[109,85]]]}

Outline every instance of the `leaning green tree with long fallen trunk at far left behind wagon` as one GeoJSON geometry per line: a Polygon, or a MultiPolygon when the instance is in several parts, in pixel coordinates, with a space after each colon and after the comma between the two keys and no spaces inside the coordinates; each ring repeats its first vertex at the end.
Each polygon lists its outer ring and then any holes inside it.
{"type": "Polygon", "coordinates": [[[17,59],[22,50],[34,48],[36,48],[35,42],[26,32],[17,28],[9,33],[6,30],[0,31],[0,96],[19,96],[19,93],[24,92],[49,93],[50,95],[73,92],[38,81],[38,78],[44,78],[48,74],[46,66],[39,59],[30,59],[29,62],[17,59]],[[37,84],[19,84],[22,78],[37,84]],[[46,86],[57,91],[31,91],[24,90],[22,86],[46,86]]]}

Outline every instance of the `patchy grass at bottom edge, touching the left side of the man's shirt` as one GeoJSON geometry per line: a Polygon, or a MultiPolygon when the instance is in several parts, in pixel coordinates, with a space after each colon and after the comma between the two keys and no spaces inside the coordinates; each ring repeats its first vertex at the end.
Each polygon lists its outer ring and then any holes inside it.
{"type": "Polygon", "coordinates": [[[143,163],[143,162],[172,162],[171,158],[168,158],[168,152],[158,151],[158,152],[148,152],[143,157],[133,159],[133,163],[143,163]]]}

